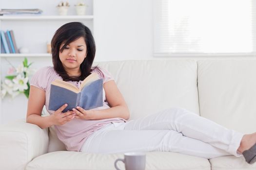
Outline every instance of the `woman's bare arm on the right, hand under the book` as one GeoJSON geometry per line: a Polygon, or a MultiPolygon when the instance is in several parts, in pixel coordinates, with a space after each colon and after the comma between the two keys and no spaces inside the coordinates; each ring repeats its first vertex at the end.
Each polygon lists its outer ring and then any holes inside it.
{"type": "Polygon", "coordinates": [[[77,114],[76,118],[94,120],[109,118],[129,119],[129,109],[115,81],[110,80],[104,83],[103,87],[106,93],[106,100],[109,103],[110,108],[102,110],[84,110],[77,107],[77,109],[73,109],[74,113],[77,114]]]}

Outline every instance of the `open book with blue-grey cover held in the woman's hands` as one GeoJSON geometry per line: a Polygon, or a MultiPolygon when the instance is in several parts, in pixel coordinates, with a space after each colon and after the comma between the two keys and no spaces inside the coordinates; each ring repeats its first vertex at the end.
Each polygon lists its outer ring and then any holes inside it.
{"type": "Polygon", "coordinates": [[[67,112],[77,106],[85,110],[103,106],[103,79],[97,73],[86,77],[80,87],[56,79],[51,83],[49,110],[56,111],[63,104],[68,106],[62,111],[67,112]]]}

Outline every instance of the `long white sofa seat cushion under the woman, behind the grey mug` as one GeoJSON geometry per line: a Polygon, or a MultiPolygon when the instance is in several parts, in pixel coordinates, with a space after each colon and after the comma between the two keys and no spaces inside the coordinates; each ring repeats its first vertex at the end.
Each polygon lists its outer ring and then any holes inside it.
{"type": "MultiPolygon", "coordinates": [[[[58,151],[32,160],[26,170],[115,170],[122,153],[99,154],[58,151]]],[[[118,167],[124,170],[122,162],[118,167]]],[[[146,155],[146,170],[211,170],[208,159],[179,153],[151,152],[146,155]]]]}

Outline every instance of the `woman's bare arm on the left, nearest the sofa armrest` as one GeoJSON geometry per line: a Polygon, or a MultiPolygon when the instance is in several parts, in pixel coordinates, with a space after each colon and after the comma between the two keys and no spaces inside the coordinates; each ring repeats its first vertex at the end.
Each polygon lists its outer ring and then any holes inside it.
{"type": "Polygon", "coordinates": [[[45,103],[45,91],[30,86],[28,107],[27,107],[27,123],[38,125],[44,129],[52,125],[62,125],[74,118],[72,111],[62,113],[67,107],[66,104],[62,105],[53,115],[47,117],[41,117],[43,105],[45,103]]]}

